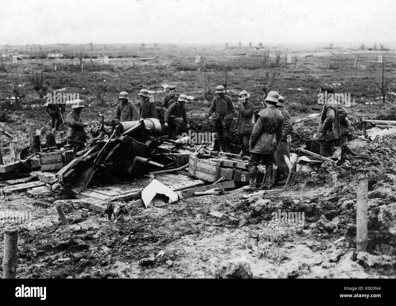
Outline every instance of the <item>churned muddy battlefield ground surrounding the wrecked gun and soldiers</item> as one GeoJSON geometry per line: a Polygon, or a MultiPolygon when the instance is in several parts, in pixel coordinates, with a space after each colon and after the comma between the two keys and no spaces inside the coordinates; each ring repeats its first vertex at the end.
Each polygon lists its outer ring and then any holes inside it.
{"type": "MultiPolygon", "coordinates": [[[[231,75],[228,77],[232,78],[228,80],[228,88],[247,88],[253,93],[256,109],[260,109],[263,96],[259,85],[267,71],[261,58],[233,57],[228,50],[195,51],[206,52],[208,63],[214,67],[209,72],[209,76],[213,75],[211,87],[219,83],[216,74],[223,76],[219,67],[236,67],[228,72],[231,75]]],[[[112,104],[121,90],[137,93],[142,87],[161,90],[161,84],[175,84],[178,93],[198,98],[187,103],[188,116],[196,118],[192,120],[200,123],[203,130],[210,129],[206,115],[209,105],[202,89],[203,74],[187,68],[195,67],[195,53],[187,50],[177,56],[168,51],[163,53],[164,57],[154,63],[110,59],[107,66],[98,66],[97,72],[87,60],[84,74],[74,67],[77,61],[72,64],[70,59],[26,61],[18,67],[18,77],[12,72],[12,63],[6,63],[8,73],[0,74],[0,127],[18,135],[18,153],[28,146],[29,126],[44,127],[42,142],[45,141],[45,133],[50,130],[49,116],[44,106],[37,103],[38,96],[29,82],[29,73],[34,68],[44,69],[49,92],[65,87],[66,92],[85,92],[82,97],[90,102],[90,106],[82,116],[90,125],[99,124],[99,113],[105,114],[107,121],[112,119],[115,110],[112,104]],[[57,72],[53,71],[55,63],[57,72]],[[14,105],[7,99],[13,95],[9,84],[21,77],[24,97],[20,105],[14,105]],[[95,78],[100,79],[107,106],[98,105],[96,101],[95,78]]],[[[319,111],[311,107],[317,105],[316,88],[324,82],[341,83],[340,92],[352,93],[354,103],[348,108],[348,118],[356,131],[362,129],[362,118],[396,120],[392,95],[386,104],[375,101],[380,95],[371,85],[378,72],[377,53],[361,53],[360,65],[353,69],[352,60],[341,52],[320,50],[312,54],[304,63],[298,62],[296,67],[270,70],[276,72],[271,89],[286,97],[287,108],[293,117],[293,150],[302,144],[309,149],[312,143],[318,116],[306,117],[318,114],[319,111]]],[[[392,58],[394,54],[387,56],[392,58]]],[[[391,65],[387,69],[394,71],[391,65]]],[[[165,94],[155,93],[156,101],[165,94]]],[[[236,96],[230,95],[235,100],[236,96]]],[[[354,141],[359,141],[358,136],[357,132],[354,141]]],[[[65,138],[65,131],[59,132],[57,142],[65,138]]],[[[10,140],[4,134],[0,139],[4,161],[8,162],[10,140]]],[[[237,145],[236,141],[233,143],[237,145]]],[[[61,225],[53,206],[55,200],[65,199],[65,196],[56,193],[38,197],[29,197],[25,193],[3,195],[0,197],[1,211],[32,215],[31,224],[19,224],[17,277],[394,278],[395,145],[395,135],[368,140],[365,148],[371,160],[343,158],[339,166],[324,163],[320,168],[310,167],[301,174],[296,186],[282,190],[278,185],[277,190],[248,200],[242,198],[246,192],[236,188],[223,195],[191,197],[161,208],[128,209],[115,220],[95,212],[84,216],[81,210],[69,205],[66,211],[70,226],[61,225]],[[357,169],[362,167],[369,170],[369,248],[367,252],[358,253],[355,179],[357,169]],[[307,195],[314,197],[312,203],[304,201],[307,195]],[[272,213],[277,214],[279,210],[304,213],[303,222],[274,220],[272,213]],[[214,217],[209,214],[211,211],[223,215],[214,217]]],[[[238,152],[238,147],[234,150],[238,152]]],[[[187,175],[187,171],[180,173],[187,175]]],[[[134,177],[122,184],[131,189],[148,184],[148,179],[134,177]]],[[[11,224],[3,223],[0,227],[7,225],[11,224]]],[[[0,254],[2,251],[3,236],[0,237],[0,254]]]]}

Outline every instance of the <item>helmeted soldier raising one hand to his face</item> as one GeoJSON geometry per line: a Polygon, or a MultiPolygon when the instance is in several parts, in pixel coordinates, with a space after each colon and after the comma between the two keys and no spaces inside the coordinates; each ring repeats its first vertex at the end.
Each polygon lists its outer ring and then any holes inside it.
{"type": "Polygon", "coordinates": [[[254,106],[249,102],[249,93],[246,90],[242,90],[239,93],[238,100],[239,114],[238,120],[236,120],[236,134],[239,136],[239,143],[242,144],[242,155],[249,155],[249,141],[251,132],[253,132],[253,112],[254,106]]]}

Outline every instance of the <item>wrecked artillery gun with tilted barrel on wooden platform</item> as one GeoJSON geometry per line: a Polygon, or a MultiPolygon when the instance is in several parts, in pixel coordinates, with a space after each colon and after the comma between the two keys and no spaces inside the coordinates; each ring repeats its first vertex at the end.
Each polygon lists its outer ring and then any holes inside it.
{"type": "Polygon", "coordinates": [[[90,129],[92,138],[86,148],[76,152],[75,158],[56,173],[63,185],[86,187],[96,171],[131,175],[135,168],[164,167],[150,157],[157,147],[168,139],[161,136],[161,124],[157,119],[120,122],[112,132],[101,126],[90,129]]]}

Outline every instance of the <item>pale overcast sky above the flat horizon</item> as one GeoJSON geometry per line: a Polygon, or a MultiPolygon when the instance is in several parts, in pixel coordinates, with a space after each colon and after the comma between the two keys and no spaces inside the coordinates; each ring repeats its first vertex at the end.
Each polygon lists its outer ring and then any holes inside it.
{"type": "Polygon", "coordinates": [[[1,0],[0,45],[392,42],[392,0],[1,0]]]}

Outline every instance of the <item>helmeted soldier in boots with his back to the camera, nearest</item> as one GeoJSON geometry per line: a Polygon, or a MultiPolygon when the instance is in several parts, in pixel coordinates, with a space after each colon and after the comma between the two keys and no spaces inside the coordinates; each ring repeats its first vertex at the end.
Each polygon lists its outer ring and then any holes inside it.
{"type": "Polygon", "coordinates": [[[271,189],[273,185],[273,163],[274,152],[282,137],[283,116],[280,110],[276,109],[279,94],[270,91],[265,98],[267,108],[257,114],[256,124],[250,137],[250,158],[249,165],[249,186],[244,186],[243,190],[255,190],[257,184],[257,166],[261,159],[265,165],[265,181],[263,189],[271,189]]]}

